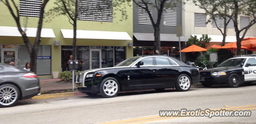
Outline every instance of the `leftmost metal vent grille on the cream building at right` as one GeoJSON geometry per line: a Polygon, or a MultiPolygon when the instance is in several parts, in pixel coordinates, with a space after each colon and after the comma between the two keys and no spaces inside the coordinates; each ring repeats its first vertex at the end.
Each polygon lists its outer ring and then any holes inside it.
{"type": "Polygon", "coordinates": [[[206,27],[206,14],[194,13],[194,26],[206,27]]]}

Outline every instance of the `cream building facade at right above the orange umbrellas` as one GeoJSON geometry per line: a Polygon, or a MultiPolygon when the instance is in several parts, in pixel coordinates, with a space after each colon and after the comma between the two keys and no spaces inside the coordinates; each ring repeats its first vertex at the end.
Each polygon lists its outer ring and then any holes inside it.
{"type": "MultiPolygon", "coordinates": [[[[197,36],[197,38],[202,37],[202,34],[208,34],[212,40],[209,45],[222,44],[222,34],[220,30],[216,28],[215,23],[208,23],[206,21],[209,19],[209,16],[206,16],[203,9],[195,6],[192,1],[186,1],[186,4],[182,6],[182,33],[186,38],[191,38],[192,36],[197,36]]],[[[238,17],[238,27],[243,28],[247,26],[250,22],[249,16],[240,15],[238,17]]],[[[224,26],[224,19],[217,19],[216,23],[218,27],[224,26]]],[[[221,28],[223,30],[223,28],[221,28]]],[[[242,33],[241,33],[242,35],[242,33]]],[[[247,32],[245,37],[255,37],[256,36],[256,25],[252,26],[247,32]]],[[[234,30],[234,23],[230,21],[227,26],[227,37],[226,42],[236,42],[236,33],[234,30]]]]}

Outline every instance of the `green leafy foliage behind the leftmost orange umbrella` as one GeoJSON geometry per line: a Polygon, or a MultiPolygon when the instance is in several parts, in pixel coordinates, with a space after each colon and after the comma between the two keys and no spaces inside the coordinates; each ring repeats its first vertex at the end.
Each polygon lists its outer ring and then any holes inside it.
{"type": "Polygon", "coordinates": [[[194,37],[188,39],[188,41],[186,42],[186,47],[195,44],[196,46],[206,48],[206,46],[209,44],[210,40],[212,40],[212,38],[209,38],[208,34],[202,34],[202,37],[200,38],[200,40],[198,40],[197,36],[194,36],[194,37]]]}

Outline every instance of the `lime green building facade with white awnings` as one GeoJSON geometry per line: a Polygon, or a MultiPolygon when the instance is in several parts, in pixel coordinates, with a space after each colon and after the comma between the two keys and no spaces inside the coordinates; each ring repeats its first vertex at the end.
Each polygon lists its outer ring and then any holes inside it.
{"type": "MultiPolygon", "coordinates": [[[[84,0],[84,4],[92,4],[84,0]]],[[[109,0],[112,3],[112,0],[109,0]]],[[[38,24],[38,14],[42,0],[18,0],[20,22],[26,27],[26,34],[32,44],[38,24]]],[[[103,5],[100,1],[94,3],[103,5]]],[[[47,12],[54,5],[50,0],[46,5],[47,12]]],[[[92,6],[96,7],[96,6],[92,6]]],[[[122,20],[121,13],[115,9],[106,9],[102,18],[96,18],[97,12],[90,16],[81,14],[77,21],[76,56],[79,60],[79,70],[111,67],[118,62],[133,56],[132,46],[132,7],[127,8],[128,19],[122,20]],[[113,13],[116,13],[113,16],[113,13]]],[[[24,68],[30,62],[26,46],[19,34],[14,18],[8,8],[0,3],[0,45],[1,63],[15,62],[16,67],[24,68]]],[[[66,16],[58,16],[50,22],[45,22],[42,29],[42,42],[37,57],[37,74],[40,78],[51,78],[52,72],[61,72],[68,69],[68,59],[72,54],[73,27],[66,16]]]]}

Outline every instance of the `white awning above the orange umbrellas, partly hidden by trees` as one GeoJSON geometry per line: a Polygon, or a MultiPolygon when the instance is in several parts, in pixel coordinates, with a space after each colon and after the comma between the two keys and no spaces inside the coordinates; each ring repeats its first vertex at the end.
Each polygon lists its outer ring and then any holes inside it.
{"type": "MultiPolygon", "coordinates": [[[[196,38],[201,38],[202,34],[191,34],[191,36],[196,36],[196,38]]],[[[222,35],[208,35],[209,38],[212,38],[210,42],[222,42],[222,35]]],[[[253,37],[253,36],[244,36],[244,38],[253,37]]],[[[226,36],[225,42],[236,42],[236,36],[226,36]]]]}

